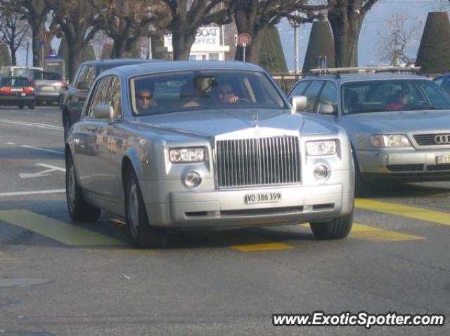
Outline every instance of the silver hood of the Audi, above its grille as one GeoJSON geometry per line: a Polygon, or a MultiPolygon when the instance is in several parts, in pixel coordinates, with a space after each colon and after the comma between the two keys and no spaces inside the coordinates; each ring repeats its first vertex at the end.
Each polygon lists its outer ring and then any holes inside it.
{"type": "MultiPolygon", "coordinates": [[[[423,133],[426,130],[449,130],[450,111],[399,111],[352,114],[343,123],[353,130],[375,133],[423,133]]],[[[375,134],[373,133],[373,134],[375,134]]]]}

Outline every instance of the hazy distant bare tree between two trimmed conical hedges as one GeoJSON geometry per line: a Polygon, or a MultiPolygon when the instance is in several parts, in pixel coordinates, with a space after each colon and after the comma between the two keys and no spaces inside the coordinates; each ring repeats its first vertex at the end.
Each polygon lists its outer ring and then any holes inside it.
{"type": "Polygon", "coordinates": [[[413,65],[422,31],[422,21],[413,19],[407,12],[394,13],[378,32],[376,48],[380,59],[390,65],[413,65]]]}

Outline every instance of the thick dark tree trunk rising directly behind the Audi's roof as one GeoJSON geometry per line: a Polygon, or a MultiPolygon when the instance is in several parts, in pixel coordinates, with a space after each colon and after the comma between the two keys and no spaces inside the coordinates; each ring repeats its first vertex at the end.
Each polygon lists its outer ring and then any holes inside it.
{"type": "Polygon", "coordinates": [[[358,65],[359,33],[367,12],[378,0],[328,0],[328,20],[335,40],[337,67],[358,65]]]}

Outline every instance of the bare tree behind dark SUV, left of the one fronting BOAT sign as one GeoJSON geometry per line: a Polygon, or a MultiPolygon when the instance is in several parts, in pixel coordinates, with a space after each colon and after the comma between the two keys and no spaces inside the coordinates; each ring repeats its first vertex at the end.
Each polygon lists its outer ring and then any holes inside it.
{"type": "Polygon", "coordinates": [[[111,58],[123,58],[142,36],[156,36],[172,19],[159,0],[90,0],[98,25],[114,41],[111,58]]]}

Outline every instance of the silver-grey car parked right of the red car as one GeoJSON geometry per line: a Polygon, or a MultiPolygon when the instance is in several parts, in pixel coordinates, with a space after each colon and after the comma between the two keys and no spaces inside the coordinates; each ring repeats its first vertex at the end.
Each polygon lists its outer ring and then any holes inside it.
{"type": "Polygon", "coordinates": [[[60,93],[65,90],[65,82],[56,72],[34,72],[31,82],[36,102],[59,103],[60,93]]]}

